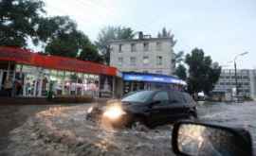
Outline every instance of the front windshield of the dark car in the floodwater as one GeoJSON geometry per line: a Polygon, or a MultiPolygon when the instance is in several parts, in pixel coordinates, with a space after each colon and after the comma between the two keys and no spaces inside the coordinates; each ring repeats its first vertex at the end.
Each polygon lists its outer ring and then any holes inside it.
{"type": "Polygon", "coordinates": [[[146,102],[153,94],[153,91],[141,91],[136,94],[128,95],[121,99],[122,102],[146,102]]]}

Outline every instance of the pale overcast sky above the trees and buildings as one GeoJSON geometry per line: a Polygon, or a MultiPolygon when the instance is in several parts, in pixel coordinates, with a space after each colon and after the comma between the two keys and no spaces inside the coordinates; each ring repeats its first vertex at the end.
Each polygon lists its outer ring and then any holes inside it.
{"type": "Polygon", "coordinates": [[[238,68],[256,68],[256,0],[46,0],[46,11],[69,15],[93,41],[103,26],[131,26],[153,36],[166,26],[177,40],[175,51],[203,48],[226,68],[248,51],[238,68]]]}

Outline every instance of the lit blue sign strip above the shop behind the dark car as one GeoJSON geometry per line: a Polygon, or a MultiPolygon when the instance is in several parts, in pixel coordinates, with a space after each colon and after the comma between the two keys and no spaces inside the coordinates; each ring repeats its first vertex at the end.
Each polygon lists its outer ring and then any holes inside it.
{"type": "Polygon", "coordinates": [[[135,80],[135,81],[148,81],[148,82],[159,82],[159,83],[173,83],[186,85],[186,82],[168,76],[156,76],[156,75],[138,75],[138,74],[123,74],[124,80],[135,80]]]}

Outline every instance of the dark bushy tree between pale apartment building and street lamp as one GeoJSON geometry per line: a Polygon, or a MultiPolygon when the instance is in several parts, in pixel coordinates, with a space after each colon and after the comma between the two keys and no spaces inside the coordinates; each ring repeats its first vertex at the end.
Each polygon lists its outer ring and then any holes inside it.
{"type": "Polygon", "coordinates": [[[204,92],[209,95],[217,82],[221,67],[212,63],[210,56],[205,56],[202,49],[194,48],[187,54],[185,62],[189,66],[188,90],[191,94],[204,92]]]}

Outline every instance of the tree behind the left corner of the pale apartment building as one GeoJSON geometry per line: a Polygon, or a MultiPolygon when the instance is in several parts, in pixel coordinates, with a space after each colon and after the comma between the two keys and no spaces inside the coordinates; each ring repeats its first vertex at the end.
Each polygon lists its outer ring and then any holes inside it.
{"type": "Polygon", "coordinates": [[[106,26],[103,27],[98,35],[96,45],[103,55],[104,61],[110,62],[110,42],[112,40],[132,39],[134,37],[134,30],[125,26],[106,26]]]}

